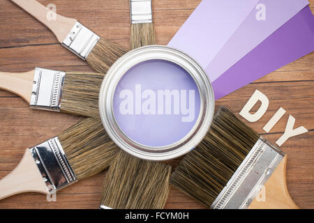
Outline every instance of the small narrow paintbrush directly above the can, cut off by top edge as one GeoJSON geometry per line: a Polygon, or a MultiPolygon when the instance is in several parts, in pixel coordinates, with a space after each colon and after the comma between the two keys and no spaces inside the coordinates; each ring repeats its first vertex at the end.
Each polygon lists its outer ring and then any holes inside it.
{"type": "Polygon", "coordinates": [[[156,45],[151,0],[130,0],[130,47],[156,45]]]}

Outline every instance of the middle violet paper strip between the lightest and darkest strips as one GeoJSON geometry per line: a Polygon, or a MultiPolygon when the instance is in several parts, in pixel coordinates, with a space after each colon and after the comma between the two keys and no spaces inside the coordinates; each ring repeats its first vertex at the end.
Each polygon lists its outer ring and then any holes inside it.
{"type": "Polygon", "coordinates": [[[307,5],[307,0],[259,1],[256,8],[205,68],[211,82],[214,82],[223,72],[231,68],[307,5]]]}

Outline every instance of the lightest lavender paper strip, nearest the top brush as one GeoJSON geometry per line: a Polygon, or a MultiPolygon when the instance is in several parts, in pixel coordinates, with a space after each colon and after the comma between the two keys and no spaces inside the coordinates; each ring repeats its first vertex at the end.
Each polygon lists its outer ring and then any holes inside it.
{"type": "Polygon", "coordinates": [[[168,46],[192,56],[206,68],[258,1],[203,0],[168,46]]]}

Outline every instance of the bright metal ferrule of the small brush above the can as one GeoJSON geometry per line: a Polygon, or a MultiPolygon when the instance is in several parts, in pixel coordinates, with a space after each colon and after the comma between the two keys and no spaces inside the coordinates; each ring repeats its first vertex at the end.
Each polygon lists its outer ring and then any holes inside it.
{"type": "Polygon", "coordinates": [[[130,0],[131,24],[153,22],[151,0],[130,0]]]}

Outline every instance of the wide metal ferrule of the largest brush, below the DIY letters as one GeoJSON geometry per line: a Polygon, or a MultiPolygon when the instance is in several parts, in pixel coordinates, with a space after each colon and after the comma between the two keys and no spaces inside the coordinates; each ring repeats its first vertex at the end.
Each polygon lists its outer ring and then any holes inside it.
{"type": "Polygon", "coordinates": [[[220,192],[211,208],[248,208],[284,156],[283,151],[261,137],[220,192]]]}

